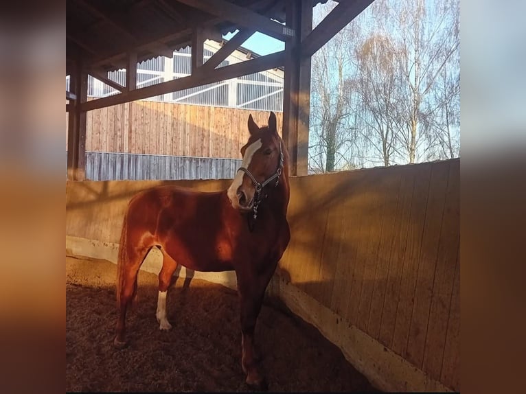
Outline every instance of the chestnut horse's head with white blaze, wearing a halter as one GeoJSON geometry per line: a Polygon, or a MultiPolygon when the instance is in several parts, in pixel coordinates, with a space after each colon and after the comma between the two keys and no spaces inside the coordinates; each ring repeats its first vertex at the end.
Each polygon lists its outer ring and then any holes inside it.
{"type": "Polygon", "coordinates": [[[273,112],[268,117],[268,126],[263,127],[255,124],[249,115],[249,132],[249,141],[241,148],[241,167],[228,189],[232,207],[240,211],[253,208],[258,188],[268,189],[274,187],[276,181],[281,181],[284,165],[284,146],[277,134],[273,112]]]}

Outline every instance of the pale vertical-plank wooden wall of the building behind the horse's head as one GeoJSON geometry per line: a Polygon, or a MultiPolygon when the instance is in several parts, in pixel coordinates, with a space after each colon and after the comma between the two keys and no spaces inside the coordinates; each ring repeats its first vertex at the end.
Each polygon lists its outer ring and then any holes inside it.
{"type": "MultiPolygon", "coordinates": [[[[86,150],[240,159],[250,114],[263,126],[270,112],[146,100],[119,104],[88,112],[86,150]]],[[[281,134],[283,113],[276,117],[281,134]]]]}

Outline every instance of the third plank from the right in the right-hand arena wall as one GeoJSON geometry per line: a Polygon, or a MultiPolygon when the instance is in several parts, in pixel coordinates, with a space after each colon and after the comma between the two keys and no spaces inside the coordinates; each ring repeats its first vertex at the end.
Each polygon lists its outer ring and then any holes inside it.
{"type": "Polygon", "coordinates": [[[404,356],[409,340],[409,326],[418,275],[420,247],[426,216],[426,205],[431,178],[431,163],[421,164],[416,167],[416,178],[413,189],[413,202],[411,203],[411,218],[407,236],[407,250],[402,268],[402,284],[400,286],[400,299],[396,312],[395,332],[391,349],[396,354],[404,356]]]}

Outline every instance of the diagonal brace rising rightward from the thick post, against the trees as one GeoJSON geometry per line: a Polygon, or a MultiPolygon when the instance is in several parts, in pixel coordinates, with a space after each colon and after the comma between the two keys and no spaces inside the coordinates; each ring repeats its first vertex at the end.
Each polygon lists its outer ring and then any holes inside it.
{"type": "Polygon", "coordinates": [[[336,33],[361,14],[374,0],[341,1],[301,42],[301,56],[307,58],[323,47],[336,33]]]}

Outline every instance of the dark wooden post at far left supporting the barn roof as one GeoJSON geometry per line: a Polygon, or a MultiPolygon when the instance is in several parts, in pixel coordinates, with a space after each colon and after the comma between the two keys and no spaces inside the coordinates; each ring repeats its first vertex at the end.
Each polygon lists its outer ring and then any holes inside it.
{"type": "Polygon", "coordinates": [[[80,104],[88,99],[88,73],[77,61],[70,76],[70,89],[76,95],[73,108],[68,113],[67,178],[70,181],[84,181],[86,178],[86,111],[80,104]]]}

